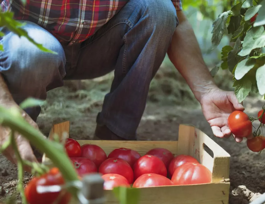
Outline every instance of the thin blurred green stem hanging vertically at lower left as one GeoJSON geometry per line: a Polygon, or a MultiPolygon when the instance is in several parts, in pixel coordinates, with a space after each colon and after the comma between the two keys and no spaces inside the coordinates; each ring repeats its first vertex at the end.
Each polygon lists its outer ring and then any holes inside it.
{"type": "Polygon", "coordinates": [[[16,139],[14,135],[14,130],[11,130],[11,145],[15,152],[16,159],[17,159],[17,165],[18,165],[18,187],[17,189],[20,191],[22,203],[27,204],[27,200],[24,194],[24,186],[23,186],[23,176],[24,176],[24,170],[23,170],[23,160],[19,154],[18,147],[16,144],[16,139]]]}

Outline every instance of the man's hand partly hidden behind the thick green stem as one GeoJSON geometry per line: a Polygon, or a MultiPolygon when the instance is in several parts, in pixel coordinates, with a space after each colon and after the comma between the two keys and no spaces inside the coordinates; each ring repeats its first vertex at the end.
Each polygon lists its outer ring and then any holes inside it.
{"type": "MultiPolygon", "coordinates": [[[[3,105],[6,108],[10,108],[13,106],[18,107],[18,105],[16,105],[16,103],[5,103],[5,104],[0,104],[3,105]]],[[[22,112],[22,116],[25,118],[25,120],[27,122],[29,122],[29,124],[31,124],[34,128],[38,129],[37,124],[31,119],[31,117],[26,114],[23,110],[21,110],[22,112]]],[[[3,143],[6,141],[6,139],[9,137],[10,135],[10,129],[0,126],[0,146],[3,145],[3,143]]],[[[37,162],[37,159],[35,157],[35,155],[33,154],[33,150],[29,144],[29,141],[27,141],[22,135],[16,133],[15,134],[16,137],[16,143],[17,143],[17,147],[18,147],[18,151],[20,152],[20,156],[23,160],[28,160],[31,162],[37,162]]],[[[6,156],[6,158],[8,160],[10,160],[12,163],[17,164],[17,159],[14,153],[14,150],[12,149],[11,146],[9,146],[4,152],[3,154],[6,156]]],[[[30,168],[29,167],[25,167],[24,169],[25,171],[29,171],[30,172],[30,168]]]]}

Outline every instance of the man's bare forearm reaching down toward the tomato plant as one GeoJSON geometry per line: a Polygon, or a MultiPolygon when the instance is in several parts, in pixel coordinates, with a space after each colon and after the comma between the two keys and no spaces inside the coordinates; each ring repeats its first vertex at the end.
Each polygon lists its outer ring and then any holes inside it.
{"type": "Polygon", "coordinates": [[[185,78],[196,99],[217,88],[207,68],[191,24],[182,11],[177,11],[179,25],[173,34],[168,55],[185,78]]]}

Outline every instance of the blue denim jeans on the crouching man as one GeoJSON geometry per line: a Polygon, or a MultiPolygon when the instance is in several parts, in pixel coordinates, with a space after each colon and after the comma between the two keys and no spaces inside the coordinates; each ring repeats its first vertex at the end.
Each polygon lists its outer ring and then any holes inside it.
{"type": "MultiPolygon", "coordinates": [[[[160,67],[178,25],[171,0],[130,0],[92,37],[71,46],[29,21],[23,27],[35,41],[58,55],[45,53],[25,37],[2,29],[0,73],[14,100],[46,99],[64,80],[92,79],[115,70],[97,123],[125,139],[135,139],[149,85],[160,67]]],[[[37,119],[40,107],[26,112],[37,119]]]]}

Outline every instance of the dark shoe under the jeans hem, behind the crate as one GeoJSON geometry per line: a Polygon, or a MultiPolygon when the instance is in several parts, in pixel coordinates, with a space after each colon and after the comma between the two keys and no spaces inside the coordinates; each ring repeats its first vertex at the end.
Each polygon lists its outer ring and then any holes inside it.
{"type": "Polygon", "coordinates": [[[105,125],[96,125],[93,140],[127,140],[113,133],[105,125]]]}

